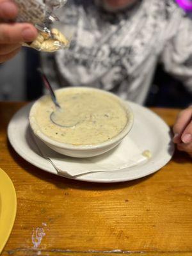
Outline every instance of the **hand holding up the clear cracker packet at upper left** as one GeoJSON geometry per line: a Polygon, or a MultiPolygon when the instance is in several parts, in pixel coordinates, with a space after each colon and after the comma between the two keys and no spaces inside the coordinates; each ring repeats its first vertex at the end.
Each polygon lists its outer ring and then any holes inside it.
{"type": "MultiPolygon", "coordinates": [[[[12,0],[0,0],[0,20],[13,20],[17,13],[17,6],[12,0]]],[[[32,42],[37,35],[32,24],[0,22],[0,63],[13,58],[22,42],[32,42]]]]}

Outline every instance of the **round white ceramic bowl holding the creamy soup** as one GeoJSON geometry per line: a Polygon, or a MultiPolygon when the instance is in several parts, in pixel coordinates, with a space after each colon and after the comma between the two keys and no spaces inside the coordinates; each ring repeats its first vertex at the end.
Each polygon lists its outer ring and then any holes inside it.
{"type": "MultiPolygon", "coordinates": [[[[73,88],[61,88],[59,90],[78,90],[79,87],[73,87],[73,88]]],[[[113,93],[109,93],[103,90],[95,89],[95,88],[86,88],[81,87],[81,89],[84,90],[91,90],[91,91],[99,91],[108,95],[112,95],[114,99],[118,99],[122,107],[125,109],[127,113],[127,124],[125,125],[124,129],[115,137],[112,139],[105,141],[103,143],[99,143],[96,145],[72,145],[68,143],[58,142],[56,140],[53,140],[52,138],[49,138],[49,136],[46,136],[42,131],[40,131],[40,128],[38,127],[38,124],[36,123],[36,120],[34,118],[36,106],[39,104],[40,99],[36,100],[36,102],[33,104],[31,111],[29,113],[29,123],[31,125],[31,129],[33,133],[44,143],[52,148],[52,150],[63,154],[65,156],[71,156],[71,157],[93,157],[93,156],[99,156],[100,154],[104,154],[105,152],[108,152],[112,148],[115,148],[127,134],[129,131],[131,131],[132,125],[133,125],[133,113],[132,109],[127,105],[127,103],[124,102],[124,100],[120,99],[113,93]]],[[[58,90],[57,90],[58,91],[58,90]]],[[[45,97],[45,96],[43,96],[45,97]]]]}

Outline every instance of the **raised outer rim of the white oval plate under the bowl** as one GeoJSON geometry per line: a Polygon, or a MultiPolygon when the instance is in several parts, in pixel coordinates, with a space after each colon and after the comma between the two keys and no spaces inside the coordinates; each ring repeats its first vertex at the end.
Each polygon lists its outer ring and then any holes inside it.
{"type": "MultiPolygon", "coordinates": [[[[143,106],[141,106],[139,104],[136,104],[134,102],[130,102],[129,100],[125,100],[125,102],[127,102],[127,104],[129,104],[131,106],[131,108],[133,106],[133,107],[144,109],[145,111],[148,111],[148,113],[150,113],[150,115],[153,115],[155,118],[157,118],[158,121],[163,123],[163,125],[166,127],[166,129],[168,129],[168,131],[170,131],[170,127],[168,126],[168,124],[166,124],[166,122],[164,122],[164,120],[160,116],[158,116],[156,113],[154,113],[150,109],[145,108],[145,107],[143,107],[143,106]]],[[[24,111],[24,109],[27,109],[29,107],[31,108],[32,104],[33,104],[33,102],[27,104],[26,106],[20,108],[19,111],[24,111]]],[[[17,111],[15,113],[15,115],[17,115],[17,113],[19,111],[17,111]]],[[[11,127],[11,124],[12,124],[12,120],[14,119],[15,115],[13,115],[12,119],[10,120],[10,123],[8,124],[8,139],[9,139],[12,147],[14,148],[14,150],[17,152],[17,154],[19,154],[19,156],[24,158],[25,160],[27,159],[26,161],[28,161],[28,163],[32,164],[33,166],[36,166],[37,168],[40,168],[41,170],[44,170],[45,172],[49,172],[49,173],[52,173],[52,174],[59,175],[60,177],[65,177],[67,179],[81,180],[81,181],[85,181],[85,182],[97,182],[97,183],[115,183],[115,182],[126,182],[126,181],[130,181],[130,180],[141,179],[142,177],[148,176],[148,175],[150,175],[152,173],[157,172],[161,168],[163,168],[163,166],[165,164],[167,164],[170,161],[170,159],[172,159],[172,156],[173,156],[174,151],[175,151],[175,147],[174,147],[174,145],[172,143],[170,156],[166,157],[166,159],[164,159],[163,163],[161,161],[160,162],[158,161],[159,163],[156,163],[156,167],[155,168],[153,168],[152,170],[151,170],[151,168],[149,168],[149,170],[147,170],[145,173],[141,173],[141,175],[137,175],[136,177],[127,177],[126,179],[123,177],[123,178],[120,178],[120,179],[108,179],[107,180],[107,179],[95,179],[95,178],[92,179],[90,177],[86,177],[86,174],[85,175],[81,175],[79,177],[77,177],[77,176],[76,177],[71,177],[69,175],[64,175],[64,174],[61,175],[60,173],[56,172],[56,170],[54,169],[52,164],[49,163],[49,161],[47,159],[45,159],[45,161],[47,161],[47,164],[46,164],[47,167],[45,167],[45,164],[44,164],[44,166],[42,166],[42,164],[37,163],[37,161],[34,161],[33,159],[31,159],[31,157],[29,157],[28,154],[25,154],[24,152],[18,152],[18,149],[12,143],[12,134],[10,132],[10,127],[11,127]],[[48,167],[48,165],[49,165],[49,167],[48,167]]],[[[41,156],[39,156],[39,157],[41,157],[41,156]]],[[[42,157],[42,158],[44,159],[44,157],[42,157]]],[[[137,166],[135,166],[133,168],[136,168],[136,167],[137,166]]]]}

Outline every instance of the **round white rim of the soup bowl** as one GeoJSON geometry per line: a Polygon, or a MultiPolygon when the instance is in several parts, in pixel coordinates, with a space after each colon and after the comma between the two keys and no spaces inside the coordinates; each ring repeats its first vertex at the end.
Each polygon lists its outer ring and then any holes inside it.
{"type": "Polygon", "coordinates": [[[95,149],[96,150],[99,148],[108,147],[109,145],[113,145],[114,143],[123,140],[124,137],[127,136],[127,134],[129,133],[129,131],[131,131],[132,125],[134,123],[133,111],[132,111],[131,107],[129,106],[129,104],[127,104],[127,102],[125,102],[124,100],[120,99],[120,97],[116,96],[114,93],[111,93],[111,92],[107,92],[107,91],[104,91],[104,90],[101,90],[98,88],[85,87],[85,86],[59,88],[59,89],[55,90],[55,92],[70,91],[70,90],[85,90],[85,91],[89,90],[89,91],[97,91],[97,92],[101,92],[101,93],[104,93],[107,95],[111,95],[116,100],[118,100],[118,102],[125,109],[125,111],[127,113],[127,124],[125,125],[124,129],[120,133],[118,133],[115,137],[111,138],[108,141],[104,141],[104,142],[98,143],[98,144],[72,145],[70,143],[64,143],[64,142],[59,142],[59,141],[53,140],[53,139],[49,138],[47,135],[45,135],[42,131],[40,131],[38,124],[36,124],[36,122],[35,122],[34,114],[35,114],[36,106],[39,104],[40,100],[44,99],[44,97],[47,97],[47,95],[43,95],[42,97],[40,97],[38,100],[36,100],[34,102],[33,106],[30,109],[30,112],[29,112],[29,124],[31,126],[33,133],[38,138],[40,138],[40,140],[42,140],[45,143],[48,143],[49,145],[52,145],[54,147],[67,149],[67,150],[87,150],[87,149],[92,149],[92,150],[95,149]]]}

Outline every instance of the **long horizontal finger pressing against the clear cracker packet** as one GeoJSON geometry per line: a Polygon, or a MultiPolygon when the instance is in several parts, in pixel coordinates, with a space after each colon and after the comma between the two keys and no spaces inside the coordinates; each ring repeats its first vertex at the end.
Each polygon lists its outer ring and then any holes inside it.
{"type": "Polygon", "coordinates": [[[37,35],[36,28],[31,24],[0,24],[0,44],[32,42],[37,35]]]}

